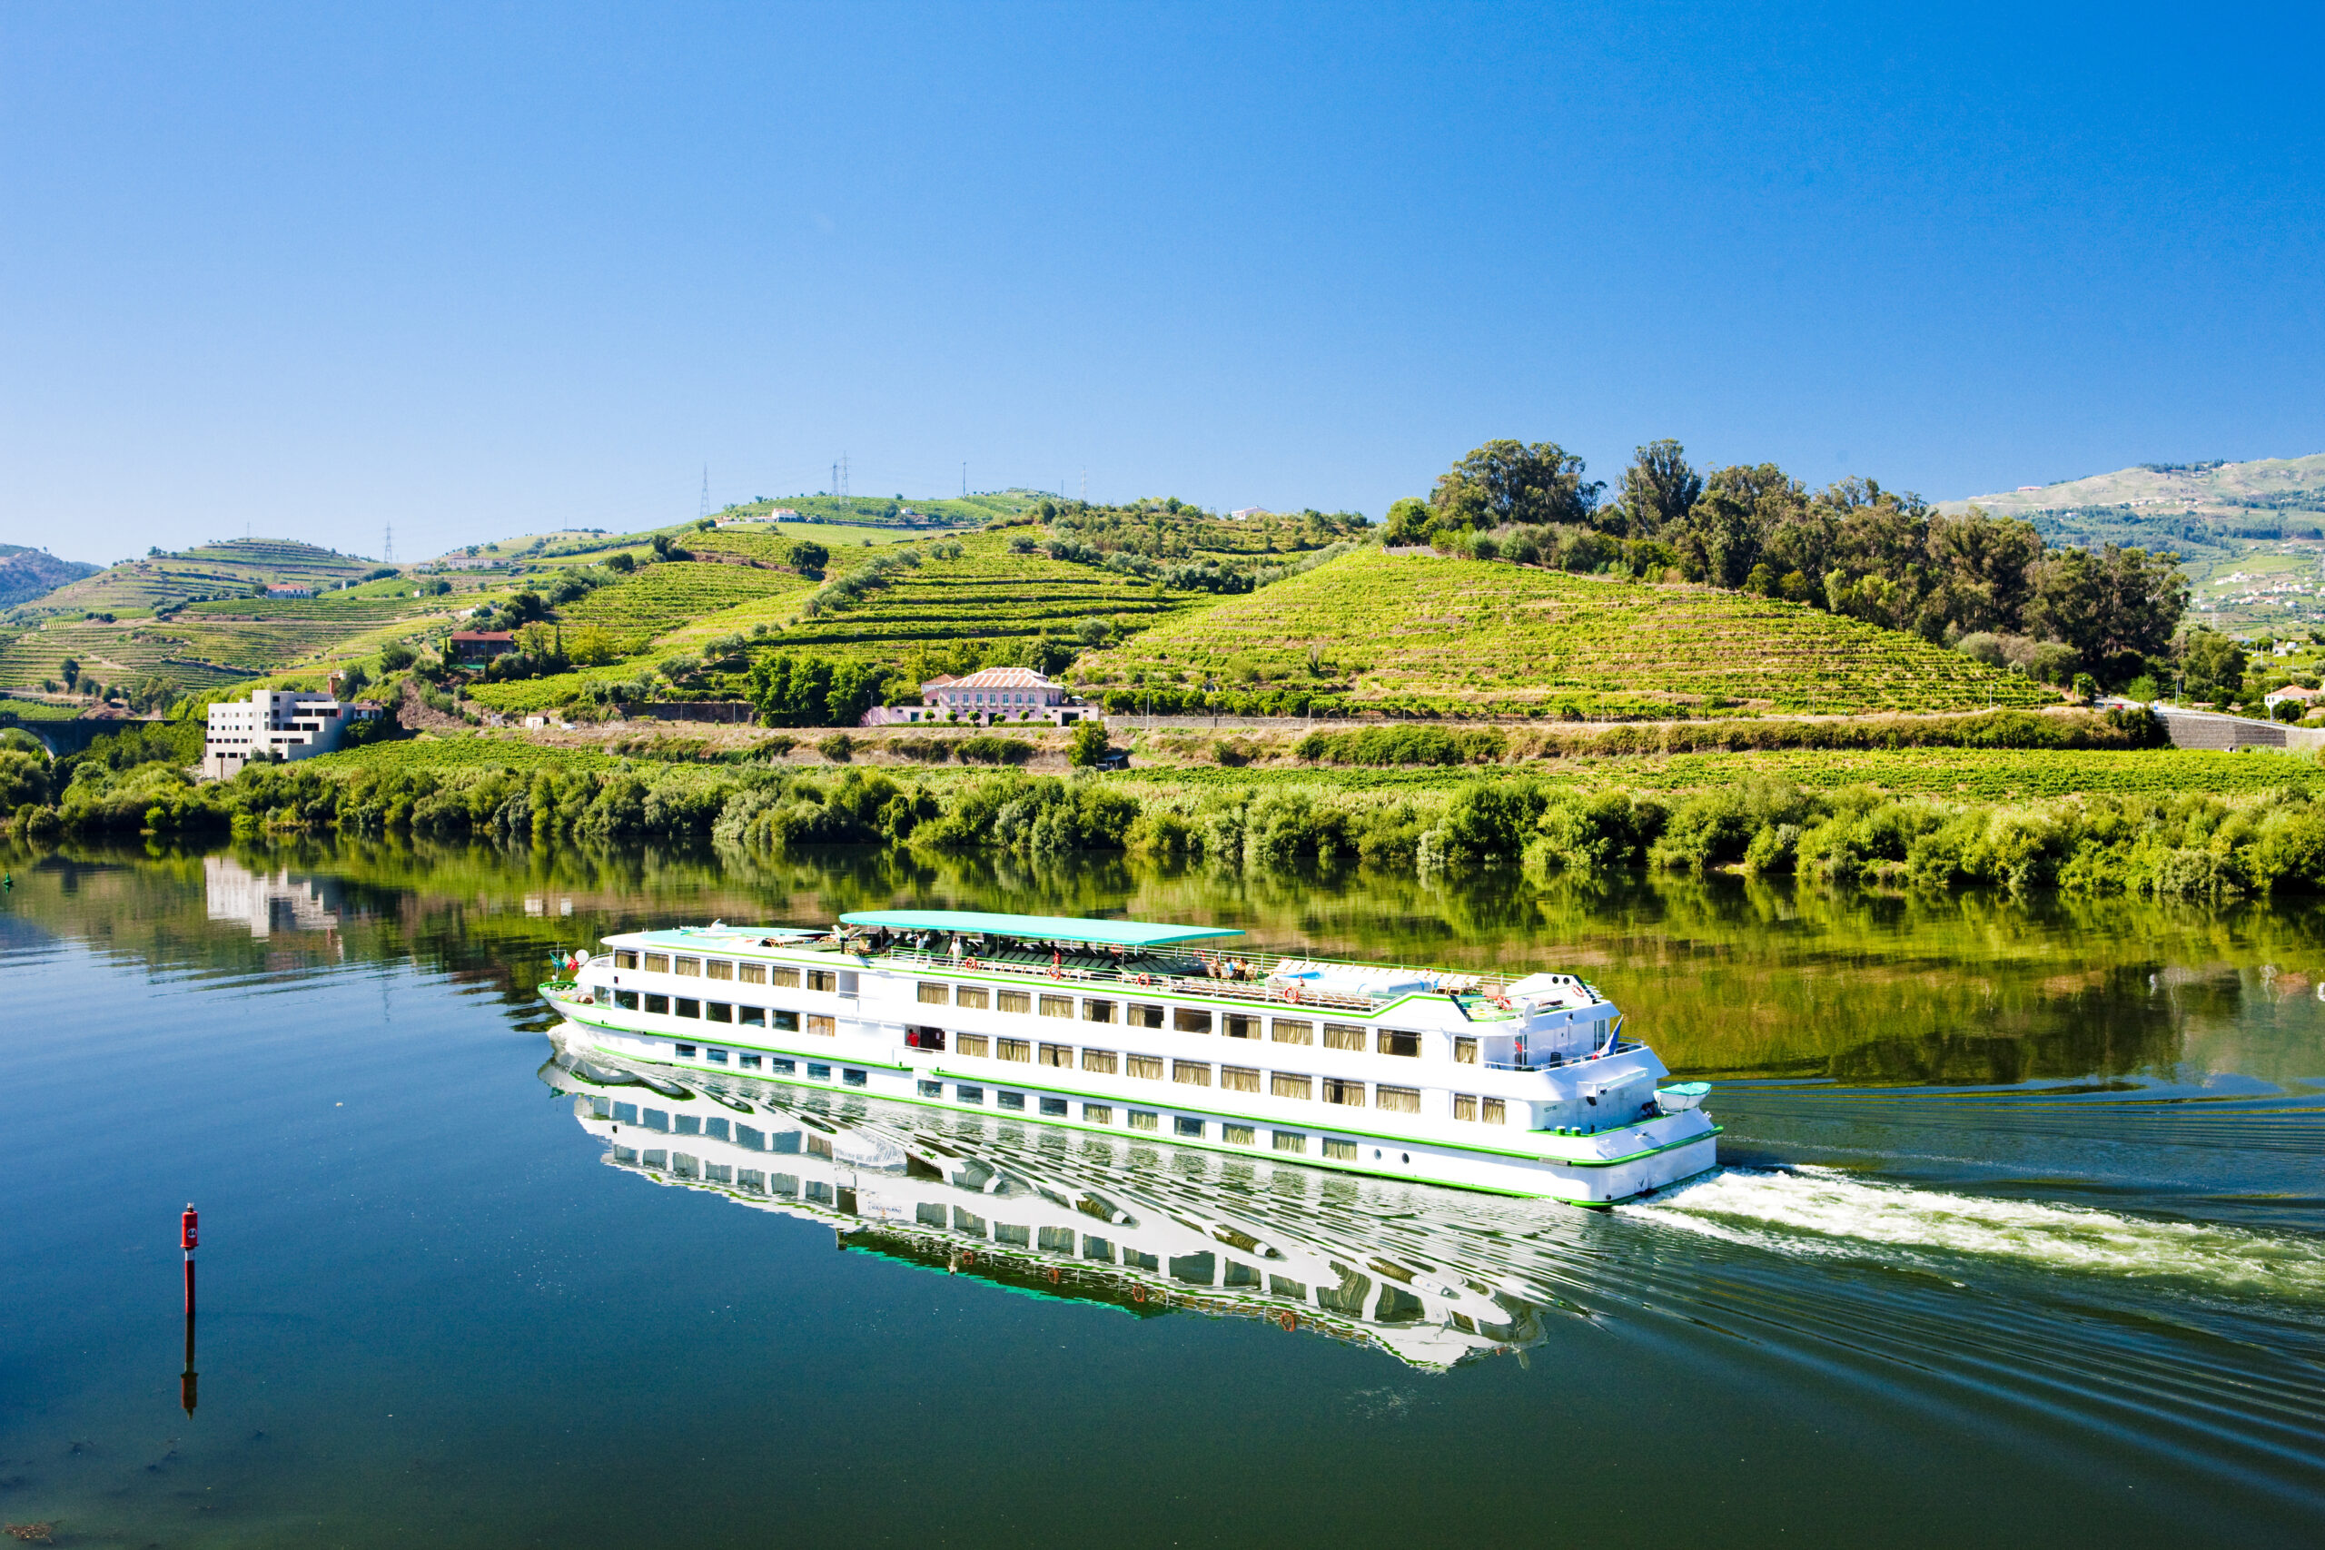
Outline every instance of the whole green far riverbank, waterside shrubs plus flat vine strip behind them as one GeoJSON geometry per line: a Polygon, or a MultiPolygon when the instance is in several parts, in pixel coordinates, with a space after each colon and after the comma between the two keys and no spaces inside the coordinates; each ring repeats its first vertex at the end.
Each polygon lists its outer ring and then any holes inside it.
{"type": "MultiPolygon", "coordinates": [[[[1000,744],[1004,739],[986,739],[1000,744]]],[[[156,739],[158,744],[158,739],[156,739]]],[[[1028,744],[1030,746],[1030,744],[1028,744]]],[[[2316,762],[2190,751],[1779,751],[1495,767],[858,767],[421,737],[193,783],[170,748],[88,758],[9,818],[58,837],[419,834],[558,844],[1135,853],[1218,867],[1734,869],[1886,888],[2232,897],[2325,888],[2316,762]]],[[[993,751],[988,751],[993,753],[993,751]]],[[[802,755],[791,739],[781,758],[802,755]]],[[[1004,755],[995,755],[997,760],[1004,755]]]]}

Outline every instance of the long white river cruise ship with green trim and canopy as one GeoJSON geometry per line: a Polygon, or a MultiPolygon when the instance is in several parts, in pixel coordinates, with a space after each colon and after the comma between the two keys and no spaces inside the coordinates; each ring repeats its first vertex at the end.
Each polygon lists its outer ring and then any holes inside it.
{"type": "Polygon", "coordinates": [[[581,1050],[1279,1162],[1611,1206],[1714,1167],[1704,1085],[1572,974],[1251,955],[1239,932],[860,911],[607,937],[581,1050]]]}

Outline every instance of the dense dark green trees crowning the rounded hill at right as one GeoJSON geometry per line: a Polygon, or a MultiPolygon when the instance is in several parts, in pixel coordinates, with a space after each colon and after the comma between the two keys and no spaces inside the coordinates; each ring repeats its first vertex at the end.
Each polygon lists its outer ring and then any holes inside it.
{"type": "Polygon", "coordinates": [[[1562,569],[1676,572],[1765,593],[2065,681],[2125,683],[2172,651],[2188,607],[2179,555],[2044,548],[2032,525],[1946,516],[1918,495],[1844,479],[1809,490],[1774,462],[1697,472],[1679,442],[1637,449],[1614,502],[1551,442],[1486,442],[1400,500],[1390,544],[1562,569]],[[2044,651],[2051,644],[2053,651],[2044,651]]]}

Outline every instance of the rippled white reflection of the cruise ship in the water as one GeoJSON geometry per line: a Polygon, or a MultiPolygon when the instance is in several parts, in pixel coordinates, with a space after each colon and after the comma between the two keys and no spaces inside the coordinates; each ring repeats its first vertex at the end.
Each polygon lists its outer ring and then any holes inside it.
{"type": "Polygon", "coordinates": [[[1483,1355],[1525,1362],[1551,1304],[1525,1294],[1493,1248],[1507,1236],[1539,1250],[1562,1218],[1581,1227],[1581,1213],[1541,1201],[584,1057],[563,1043],[542,1081],[574,1097],[609,1167],[828,1222],[842,1248],[1135,1315],[1265,1318],[1432,1371],[1483,1355]],[[1525,1220],[1467,1220],[1495,1211],[1525,1220]]]}

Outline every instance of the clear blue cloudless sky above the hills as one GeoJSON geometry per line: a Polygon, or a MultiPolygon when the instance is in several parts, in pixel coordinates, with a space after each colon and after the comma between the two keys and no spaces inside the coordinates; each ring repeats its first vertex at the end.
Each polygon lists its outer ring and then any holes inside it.
{"type": "Polygon", "coordinates": [[[2316,7],[0,9],[0,539],[2325,451],[2316,7]]]}

